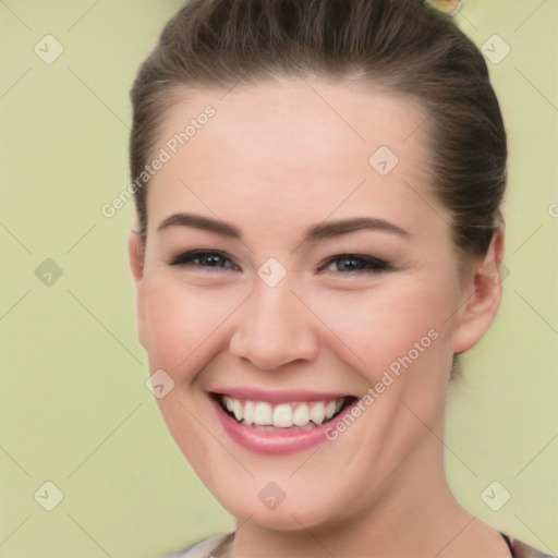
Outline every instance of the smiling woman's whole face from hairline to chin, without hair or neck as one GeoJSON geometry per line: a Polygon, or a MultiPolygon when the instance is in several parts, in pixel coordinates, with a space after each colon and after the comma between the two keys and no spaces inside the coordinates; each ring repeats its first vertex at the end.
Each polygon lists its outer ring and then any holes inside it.
{"type": "Polygon", "coordinates": [[[315,80],[184,92],[166,114],[143,269],[131,239],[140,338],[170,432],[236,517],[327,524],[442,474],[466,289],[426,125],[315,80]]]}

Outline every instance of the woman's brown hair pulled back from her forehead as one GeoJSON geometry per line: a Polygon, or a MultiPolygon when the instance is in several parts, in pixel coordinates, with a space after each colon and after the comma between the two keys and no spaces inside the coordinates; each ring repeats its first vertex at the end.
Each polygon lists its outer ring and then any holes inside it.
{"type": "MultiPolygon", "coordinates": [[[[478,49],[421,0],[192,0],[166,25],[132,87],[132,180],[153,156],[177,88],[311,75],[359,78],[418,100],[428,116],[433,187],[451,215],[454,243],[484,255],[507,180],[500,108],[478,49]]],[[[134,193],[142,233],[146,187],[134,193]]]]}

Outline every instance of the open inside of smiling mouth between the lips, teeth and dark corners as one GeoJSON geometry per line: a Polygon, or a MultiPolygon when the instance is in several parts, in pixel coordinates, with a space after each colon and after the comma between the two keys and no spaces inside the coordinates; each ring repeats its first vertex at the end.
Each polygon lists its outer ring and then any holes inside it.
{"type": "Polygon", "coordinates": [[[260,432],[312,430],[332,421],[356,398],[348,396],[324,401],[240,400],[223,393],[213,393],[222,411],[243,426],[260,432]]]}

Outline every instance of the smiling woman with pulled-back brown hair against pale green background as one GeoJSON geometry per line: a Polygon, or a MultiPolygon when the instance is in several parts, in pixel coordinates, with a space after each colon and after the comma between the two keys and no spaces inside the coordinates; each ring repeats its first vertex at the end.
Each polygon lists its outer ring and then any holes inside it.
{"type": "Polygon", "coordinates": [[[444,471],[456,359],[501,298],[506,133],[475,46],[418,0],[198,0],[132,101],[140,339],[236,518],[180,556],[543,556],[444,471]]]}

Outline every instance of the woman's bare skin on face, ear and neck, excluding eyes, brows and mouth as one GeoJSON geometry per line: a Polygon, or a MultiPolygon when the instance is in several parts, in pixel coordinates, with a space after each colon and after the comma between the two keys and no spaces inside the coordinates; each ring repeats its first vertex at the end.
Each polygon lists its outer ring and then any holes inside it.
{"type": "Polygon", "coordinates": [[[154,153],[207,105],[215,117],[151,179],[146,239],[132,233],[130,260],[150,371],[175,381],[160,410],[236,518],[231,556],[509,556],[456,501],[440,442],[452,355],[482,338],[500,303],[504,234],[463,265],[429,189],[423,111],[369,86],[318,80],[184,89],[154,153]],[[368,163],[383,145],[399,158],[386,177],[368,163]],[[180,211],[231,223],[242,240],[157,230],[180,211]],[[303,241],[313,225],[352,217],[408,234],[303,241]],[[169,264],[199,248],[225,251],[232,264],[169,264]],[[342,254],[391,268],[347,274],[328,264],[342,254]],[[287,270],[274,288],[257,276],[269,257],[287,270]],[[223,386],[361,397],[429,330],[436,341],[335,441],[257,454],[226,435],[210,405],[208,392],[223,386]],[[271,481],[286,495],[274,510],[258,498],[271,481]]]}

